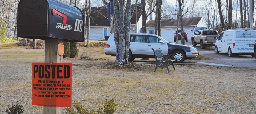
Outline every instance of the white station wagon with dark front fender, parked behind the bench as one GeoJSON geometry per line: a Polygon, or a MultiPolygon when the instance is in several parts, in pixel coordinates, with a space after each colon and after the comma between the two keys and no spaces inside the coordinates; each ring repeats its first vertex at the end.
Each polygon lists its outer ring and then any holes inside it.
{"type": "MultiPolygon", "coordinates": [[[[174,54],[174,58],[177,59],[177,62],[195,58],[199,54],[197,49],[192,46],[170,43],[158,35],[130,33],[128,60],[132,61],[135,58],[155,58],[152,48],[160,48],[163,55],[174,54]]],[[[116,55],[114,33],[110,35],[104,52],[106,55],[116,55]]]]}

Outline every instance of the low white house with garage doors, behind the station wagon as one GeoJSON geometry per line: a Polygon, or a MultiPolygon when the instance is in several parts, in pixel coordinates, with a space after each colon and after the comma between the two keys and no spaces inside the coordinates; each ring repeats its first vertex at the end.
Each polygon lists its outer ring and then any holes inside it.
{"type": "MultiPolygon", "coordinates": [[[[175,17],[175,16],[174,16],[175,17]]],[[[191,36],[194,27],[207,27],[202,17],[183,18],[183,28],[187,34],[188,42],[191,42],[191,36]]],[[[180,26],[179,26],[180,28],[180,26]]],[[[174,42],[174,32],[177,30],[177,19],[162,19],[161,20],[161,37],[168,42],[174,42]]],[[[147,23],[147,33],[155,33],[155,20],[150,20],[147,23]]]]}

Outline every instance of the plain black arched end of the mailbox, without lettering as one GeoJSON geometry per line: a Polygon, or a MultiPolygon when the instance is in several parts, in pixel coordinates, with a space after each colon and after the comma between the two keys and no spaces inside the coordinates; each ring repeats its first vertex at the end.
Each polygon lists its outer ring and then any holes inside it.
{"type": "Polygon", "coordinates": [[[17,14],[17,37],[45,39],[48,27],[46,0],[20,0],[17,14]]]}

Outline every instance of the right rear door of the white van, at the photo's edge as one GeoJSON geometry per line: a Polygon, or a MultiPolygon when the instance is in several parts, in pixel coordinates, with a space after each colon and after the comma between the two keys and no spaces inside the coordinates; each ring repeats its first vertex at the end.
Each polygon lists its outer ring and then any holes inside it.
{"type": "Polygon", "coordinates": [[[256,30],[245,30],[244,31],[244,39],[245,39],[245,52],[253,53],[254,42],[256,40],[256,30]]]}

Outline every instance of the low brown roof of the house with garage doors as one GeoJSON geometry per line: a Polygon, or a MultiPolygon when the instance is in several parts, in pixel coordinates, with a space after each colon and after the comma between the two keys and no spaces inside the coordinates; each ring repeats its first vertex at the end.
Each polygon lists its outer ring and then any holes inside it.
{"type": "MultiPolygon", "coordinates": [[[[183,18],[183,26],[197,25],[202,17],[183,18]]],[[[180,24],[179,24],[180,25],[180,24]]],[[[148,21],[147,27],[155,27],[155,20],[148,21]]],[[[177,19],[162,19],[161,26],[177,26],[177,19]]]]}

